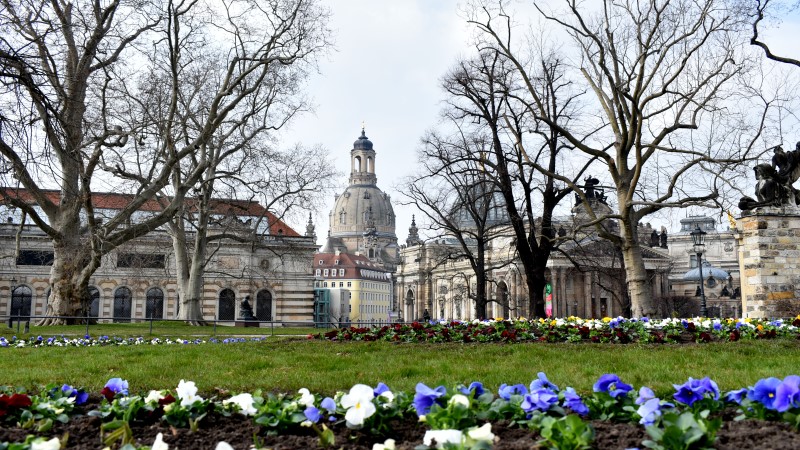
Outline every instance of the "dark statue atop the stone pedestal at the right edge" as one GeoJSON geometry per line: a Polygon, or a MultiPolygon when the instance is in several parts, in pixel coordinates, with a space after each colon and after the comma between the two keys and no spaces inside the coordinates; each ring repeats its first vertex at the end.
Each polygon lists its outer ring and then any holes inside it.
{"type": "Polygon", "coordinates": [[[753,168],[756,176],[756,199],[742,197],[739,209],[749,211],[764,206],[797,206],[800,191],[792,185],[800,178],[800,142],[786,153],[780,145],[773,149],[771,163],[753,168]]]}

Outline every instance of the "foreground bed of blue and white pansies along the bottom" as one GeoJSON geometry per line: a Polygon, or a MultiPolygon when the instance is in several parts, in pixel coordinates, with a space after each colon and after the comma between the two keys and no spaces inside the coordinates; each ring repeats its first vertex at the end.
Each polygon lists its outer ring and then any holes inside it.
{"type": "Polygon", "coordinates": [[[544,373],[496,392],[479,382],[419,383],[413,393],[380,383],[332,397],[300,389],[204,398],[184,380],[134,395],[120,378],[93,395],[69,385],[37,394],[5,387],[0,449],[750,448],[759,433],[770,448],[800,446],[800,376],[724,394],[708,377],[674,388],[658,397],[605,374],[581,395],[544,373]]]}

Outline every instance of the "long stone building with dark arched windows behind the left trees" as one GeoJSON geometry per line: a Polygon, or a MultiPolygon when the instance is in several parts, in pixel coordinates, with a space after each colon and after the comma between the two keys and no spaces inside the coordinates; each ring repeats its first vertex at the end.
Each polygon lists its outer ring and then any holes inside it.
{"type": "MultiPolygon", "coordinates": [[[[58,198],[56,191],[48,195],[58,198]]],[[[130,200],[123,194],[93,195],[100,216],[106,211],[113,215],[130,200]]],[[[157,202],[148,202],[139,214],[158,208],[157,202]]],[[[225,239],[209,251],[211,262],[202,289],[203,317],[233,324],[240,317],[240,301],[249,295],[259,320],[310,322],[313,239],[299,235],[255,202],[218,199],[214,208],[213,227],[253,239],[225,239]]],[[[5,317],[44,315],[49,297],[52,242],[29,221],[20,223],[21,218],[18,210],[0,206],[0,316],[5,317]]],[[[166,229],[152,231],[105,255],[89,284],[90,315],[100,321],[175,318],[180,306],[172,240],[166,229]]]]}

